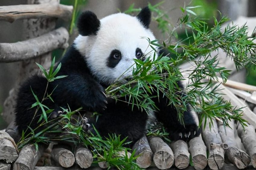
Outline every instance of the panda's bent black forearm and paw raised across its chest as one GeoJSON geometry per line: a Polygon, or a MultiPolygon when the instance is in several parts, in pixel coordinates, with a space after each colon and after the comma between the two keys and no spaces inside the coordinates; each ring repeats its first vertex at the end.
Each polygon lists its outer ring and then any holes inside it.
{"type": "Polygon", "coordinates": [[[88,73],[69,72],[67,77],[57,79],[53,84],[56,87],[53,99],[59,105],[68,105],[73,110],[81,106],[90,111],[106,108],[104,88],[88,73]]]}

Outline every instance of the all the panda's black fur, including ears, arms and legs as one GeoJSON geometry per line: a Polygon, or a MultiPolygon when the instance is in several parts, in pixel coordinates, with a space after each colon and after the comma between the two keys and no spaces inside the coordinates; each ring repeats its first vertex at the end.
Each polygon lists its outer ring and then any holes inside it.
{"type": "MultiPolygon", "coordinates": [[[[141,21],[146,23],[145,26],[147,27],[149,22],[147,22],[148,19],[145,20],[145,16],[146,18],[148,17],[148,12],[149,9],[144,8],[139,14],[140,18],[144,18],[141,21]]],[[[93,13],[83,13],[82,19],[79,19],[78,22],[78,28],[80,27],[79,32],[82,31],[84,35],[95,34],[99,24],[95,24],[88,29],[84,29],[83,27],[86,26],[82,26],[81,24],[94,23],[94,21],[99,23],[97,17],[94,16],[93,13]],[[85,20],[85,16],[90,16],[88,17],[89,21],[85,20]]],[[[60,110],[60,107],[70,107],[71,110],[75,110],[82,106],[84,110],[97,111],[101,114],[94,125],[102,136],[108,137],[109,133],[116,133],[120,134],[122,138],[128,136],[128,140],[133,141],[134,143],[145,134],[145,126],[148,118],[146,112],[139,110],[136,106],[132,108],[132,105],[127,104],[127,102],[120,101],[125,100],[125,97],[118,101],[108,99],[104,94],[104,89],[109,86],[109,84],[99,83],[97,78],[92,75],[88,68],[85,57],[75,49],[74,45],[69,48],[60,62],[62,67],[56,76],[67,75],[67,77],[50,82],[48,84],[47,93],[52,93],[54,102],[50,99],[43,101],[43,104],[48,106],[49,109],[54,109],[50,119],[51,117],[56,117],[56,111],[60,110]]],[[[113,65],[110,64],[110,66],[113,65]]],[[[180,88],[184,88],[180,82],[177,83],[180,88]]],[[[37,121],[42,112],[39,109],[34,117],[36,107],[30,107],[36,102],[36,99],[34,98],[31,89],[37,95],[39,101],[41,101],[45,94],[46,84],[47,80],[45,77],[34,75],[21,85],[15,108],[15,121],[20,133],[22,133],[23,130],[26,130],[29,125],[32,129],[38,127],[37,121]],[[30,124],[31,121],[32,123],[30,124]]],[[[153,95],[157,96],[157,94],[153,95]]],[[[181,97],[183,95],[185,94],[181,94],[181,97]]],[[[156,113],[156,116],[159,121],[163,122],[170,133],[172,140],[190,140],[194,136],[200,134],[189,108],[187,112],[184,113],[185,125],[183,126],[178,121],[177,110],[172,105],[168,105],[168,99],[164,94],[160,93],[159,99],[155,97],[152,98],[152,100],[159,108],[159,112],[156,113]],[[195,135],[194,132],[196,132],[195,135]],[[183,134],[182,138],[179,136],[180,133],[183,134]],[[190,137],[185,137],[184,134],[189,133],[190,137]]],[[[37,129],[36,132],[39,130],[41,129],[37,129]]]]}

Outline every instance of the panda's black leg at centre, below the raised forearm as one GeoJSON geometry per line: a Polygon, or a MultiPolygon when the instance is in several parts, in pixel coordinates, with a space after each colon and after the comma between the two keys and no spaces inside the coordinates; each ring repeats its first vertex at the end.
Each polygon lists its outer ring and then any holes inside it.
{"type": "MultiPolygon", "coordinates": [[[[122,100],[122,99],[120,99],[122,100]]],[[[101,112],[95,128],[102,137],[109,137],[109,134],[120,135],[120,139],[127,137],[126,147],[131,147],[146,132],[146,112],[131,104],[122,101],[108,101],[107,109],[101,112]]]]}

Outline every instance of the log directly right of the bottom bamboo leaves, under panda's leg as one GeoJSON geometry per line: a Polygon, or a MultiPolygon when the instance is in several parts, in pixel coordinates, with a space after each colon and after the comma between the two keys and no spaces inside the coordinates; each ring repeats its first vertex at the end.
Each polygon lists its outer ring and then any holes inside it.
{"type": "Polygon", "coordinates": [[[149,146],[146,135],[144,135],[133,145],[133,150],[136,150],[135,156],[139,155],[139,157],[136,159],[136,163],[139,165],[139,167],[148,168],[153,160],[153,152],[149,146]]]}

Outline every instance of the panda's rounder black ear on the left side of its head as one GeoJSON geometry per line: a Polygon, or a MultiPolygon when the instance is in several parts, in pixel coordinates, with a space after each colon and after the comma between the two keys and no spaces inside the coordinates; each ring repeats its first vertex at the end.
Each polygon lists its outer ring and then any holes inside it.
{"type": "Polygon", "coordinates": [[[85,11],[78,18],[77,28],[82,36],[96,35],[100,28],[100,20],[93,12],[85,11]]]}

